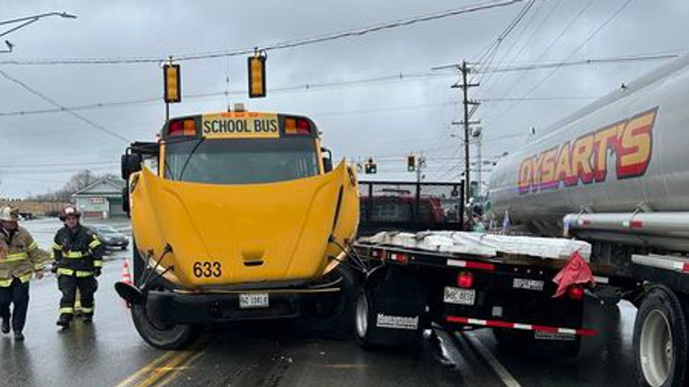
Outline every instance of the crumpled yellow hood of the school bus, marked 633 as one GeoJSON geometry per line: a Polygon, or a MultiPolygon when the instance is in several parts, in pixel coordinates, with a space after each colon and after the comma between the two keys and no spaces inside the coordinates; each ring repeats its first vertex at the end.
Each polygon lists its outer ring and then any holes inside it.
{"type": "Polygon", "coordinates": [[[341,252],[331,233],[340,244],[356,235],[358,187],[344,161],[268,184],[179,182],[144,168],[130,187],[136,248],[153,265],[170,244],[160,266],[173,265],[166,278],[185,289],[316,279],[341,252]]]}

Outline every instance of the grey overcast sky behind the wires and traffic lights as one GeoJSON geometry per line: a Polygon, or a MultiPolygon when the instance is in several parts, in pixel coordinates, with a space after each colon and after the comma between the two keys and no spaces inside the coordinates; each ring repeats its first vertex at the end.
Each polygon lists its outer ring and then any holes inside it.
{"type": "MultiPolygon", "coordinates": [[[[689,50],[689,1],[537,0],[502,41],[492,66],[597,59],[689,50]],[[580,15],[580,17],[576,17],[580,15]],[[571,26],[565,30],[565,27],[571,26]],[[560,38],[556,41],[556,38],[560,38]],[[588,43],[581,46],[588,40],[588,43]],[[554,42],[554,43],[553,43],[554,42]],[[574,50],[579,48],[575,54],[574,50]],[[546,50],[549,48],[549,50],[546,50]]],[[[477,4],[437,1],[21,1],[0,0],[0,21],[52,11],[6,36],[24,59],[167,57],[265,46],[367,27],[477,4]]],[[[486,2],[484,0],[484,2],[486,2]]],[[[405,155],[428,157],[426,180],[459,178],[459,89],[452,71],[434,66],[477,61],[526,2],[420,22],[364,36],[268,52],[268,97],[246,95],[246,57],[182,63],[183,94],[239,92],[183,98],[171,114],[222,111],[244,102],[249,110],[295,112],[312,117],[336,157],[378,161],[377,179],[413,179],[405,155]],[[347,82],[395,74],[437,73],[409,80],[365,82],[275,91],[281,87],[347,82]],[[229,84],[226,79],[229,78],[229,84]]],[[[12,26],[0,26],[0,34],[12,26]]],[[[474,119],[484,129],[484,156],[523,145],[535,126],[546,126],[664,61],[599,64],[484,75],[472,98],[484,99],[474,119]],[[545,81],[542,81],[545,77],[545,81]],[[530,94],[527,92],[542,82],[530,94]],[[495,98],[567,99],[494,101],[495,98]]],[[[0,70],[64,106],[156,98],[158,64],[0,64],[0,70]]],[[[478,76],[478,75],[477,75],[478,76]]],[[[474,78],[477,80],[477,78],[474,78]]],[[[61,187],[76,170],[119,170],[127,143],[65,112],[1,115],[52,108],[38,96],[0,78],[0,197],[23,197],[61,187]]],[[[154,140],[164,119],[162,101],[78,110],[129,140],[154,140]]]]}

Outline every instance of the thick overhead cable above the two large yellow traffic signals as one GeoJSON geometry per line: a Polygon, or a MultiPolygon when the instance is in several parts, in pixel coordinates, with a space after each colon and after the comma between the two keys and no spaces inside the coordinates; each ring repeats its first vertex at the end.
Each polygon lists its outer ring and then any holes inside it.
{"type": "MultiPolygon", "coordinates": [[[[266,46],[260,46],[261,50],[273,51],[284,50],[287,48],[295,48],[303,45],[312,45],[315,43],[324,43],[327,41],[335,41],[342,38],[354,38],[371,34],[373,32],[384,31],[387,29],[396,29],[399,27],[406,27],[411,24],[420,22],[430,22],[433,20],[440,20],[447,17],[463,15],[465,13],[473,13],[479,10],[488,10],[491,8],[498,8],[503,6],[510,6],[515,3],[521,3],[525,0],[503,0],[491,1],[487,3],[477,3],[471,6],[462,8],[454,8],[438,13],[431,13],[427,15],[419,15],[410,17],[409,19],[395,20],[392,22],[385,22],[382,24],[374,24],[368,27],[359,29],[351,29],[349,31],[342,31],[333,34],[325,34],[320,36],[312,36],[309,38],[302,38],[295,41],[287,41],[282,43],[273,43],[266,46]]],[[[217,52],[204,52],[196,54],[180,54],[173,55],[176,61],[192,61],[199,59],[213,59],[219,57],[234,57],[238,55],[246,55],[254,53],[256,48],[240,48],[233,50],[222,50],[217,52]]],[[[0,64],[14,64],[14,65],[55,65],[55,64],[143,64],[143,63],[159,63],[166,60],[167,57],[122,57],[122,58],[74,58],[74,59],[10,59],[0,61],[0,64]]]]}

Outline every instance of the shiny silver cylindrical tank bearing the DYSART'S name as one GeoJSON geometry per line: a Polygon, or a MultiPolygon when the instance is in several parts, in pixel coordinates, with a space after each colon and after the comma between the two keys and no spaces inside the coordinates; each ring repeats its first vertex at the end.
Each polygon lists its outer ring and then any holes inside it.
{"type": "Polygon", "coordinates": [[[544,133],[493,170],[491,210],[499,219],[507,210],[512,224],[562,235],[567,214],[565,224],[580,227],[602,220],[595,214],[629,214],[611,230],[627,234],[625,227],[640,228],[641,218],[630,223],[638,214],[674,215],[677,221],[688,212],[679,228],[689,231],[689,56],[623,85],[544,133]]]}

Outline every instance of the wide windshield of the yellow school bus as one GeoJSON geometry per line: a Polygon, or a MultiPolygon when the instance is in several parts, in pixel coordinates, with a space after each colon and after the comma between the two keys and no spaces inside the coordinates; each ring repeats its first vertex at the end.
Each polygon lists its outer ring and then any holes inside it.
{"type": "Polygon", "coordinates": [[[166,144],[165,177],[169,180],[255,184],[318,173],[313,138],[194,139],[166,144]]]}

